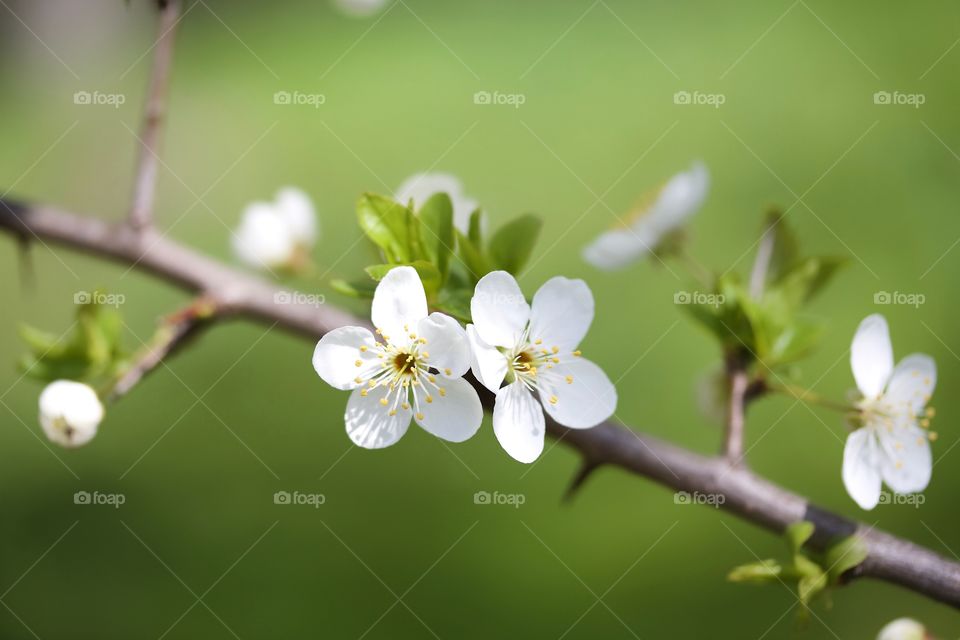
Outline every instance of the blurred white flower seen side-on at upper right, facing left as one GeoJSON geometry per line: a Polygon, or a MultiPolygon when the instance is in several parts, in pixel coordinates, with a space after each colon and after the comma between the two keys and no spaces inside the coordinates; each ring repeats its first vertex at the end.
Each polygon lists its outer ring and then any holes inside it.
{"type": "Polygon", "coordinates": [[[598,269],[612,271],[655,252],[700,209],[709,186],[706,166],[695,162],[689,171],[673,176],[653,204],[640,210],[629,225],[602,233],[587,245],[583,259],[598,269]]]}

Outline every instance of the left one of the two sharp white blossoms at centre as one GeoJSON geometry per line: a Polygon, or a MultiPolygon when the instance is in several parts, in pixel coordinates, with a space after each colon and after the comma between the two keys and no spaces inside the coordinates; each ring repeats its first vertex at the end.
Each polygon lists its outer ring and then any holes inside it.
{"type": "Polygon", "coordinates": [[[463,375],[470,345],[460,324],[427,314],[427,297],[412,267],[395,267],[377,285],[371,312],[378,340],[363,327],[341,327],[321,338],[313,367],[324,382],[352,390],[344,416],[357,445],[397,442],[411,418],[428,432],[462,442],[480,428],[483,407],[463,375]]]}

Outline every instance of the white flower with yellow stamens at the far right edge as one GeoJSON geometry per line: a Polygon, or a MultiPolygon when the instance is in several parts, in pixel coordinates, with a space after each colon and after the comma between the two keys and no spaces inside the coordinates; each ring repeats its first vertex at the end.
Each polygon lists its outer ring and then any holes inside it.
{"type": "Polygon", "coordinates": [[[850,366],[863,398],[862,425],[847,437],[843,483],[863,509],[880,500],[881,481],[896,493],[923,491],[932,470],[925,409],[937,383],[930,356],[912,354],[893,366],[890,331],[882,315],[868,316],[853,337],[850,366]]]}

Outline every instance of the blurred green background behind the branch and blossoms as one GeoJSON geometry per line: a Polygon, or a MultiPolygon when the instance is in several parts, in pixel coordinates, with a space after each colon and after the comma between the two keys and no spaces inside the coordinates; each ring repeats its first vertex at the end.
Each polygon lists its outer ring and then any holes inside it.
{"type": "MultiPolygon", "coordinates": [[[[844,397],[846,350],[874,312],[898,358],[927,352],[940,369],[937,464],[919,508],[861,512],[840,481],[841,417],[786,398],[751,412],[750,464],[842,514],[960,550],[960,6],[397,0],[358,19],[325,2],[187,5],[159,188],[157,223],[172,237],[232,261],[228,229],[244,204],[298,185],[320,213],[317,261],[354,277],[370,262],[358,194],[428,168],[455,173],[494,224],[546,218],[528,294],[555,274],[589,282],[598,313],[584,349],[619,379],[618,417],[710,453],[719,429],[695,387],[718,353],[673,304],[689,279],[676,265],[611,275],[579,258],[616,222],[610,209],[701,158],[713,179],[692,228],[701,262],[746,270],[771,204],[795,205],[788,219],[808,251],[851,256],[815,304],[830,329],[799,371],[806,384],[844,397]],[[326,101],[276,105],[277,91],[326,101]],[[478,91],[525,103],[476,105],[478,91]],[[677,105],[678,91],[725,102],[677,105]],[[925,103],[878,105],[877,91],[925,103]],[[925,303],[876,305],[879,291],[925,303]]],[[[6,0],[0,25],[0,188],[121,218],[149,4],[6,0]],[[79,90],[127,99],[78,106],[79,90]]],[[[960,632],[945,606],[874,582],[837,591],[802,631],[785,589],[724,581],[736,564],[781,555],[781,540],[614,470],[562,504],[577,464],[563,446],[522,466],[486,424],[461,445],[411,428],[390,449],[355,449],[346,395],[313,373],[313,345],[265,326],[206,334],[110,407],[91,445],[55,448],[36,422],[41,385],[15,370],[18,324],[64,331],[74,293],[104,287],[126,296],[132,349],[188,298],[62,247],[32,249],[35,286],[0,240],[4,638],[873,638],[902,615],[938,637],[960,632]],[[75,505],[76,491],[126,502],[75,505]],[[326,502],[275,505],[277,491],[326,502]],[[478,506],[477,491],[525,504],[478,506]]],[[[297,286],[364,311],[320,283],[297,286]]]]}

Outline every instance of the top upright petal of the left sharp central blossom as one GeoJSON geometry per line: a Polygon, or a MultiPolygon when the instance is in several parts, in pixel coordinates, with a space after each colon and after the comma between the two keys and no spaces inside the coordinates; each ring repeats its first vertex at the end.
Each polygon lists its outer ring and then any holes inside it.
{"type": "Polygon", "coordinates": [[[410,334],[427,317],[427,295],[413,267],[395,267],[377,285],[371,317],[374,326],[391,344],[410,344],[410,334]]]}

